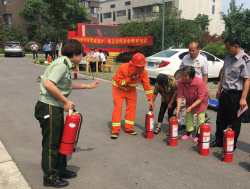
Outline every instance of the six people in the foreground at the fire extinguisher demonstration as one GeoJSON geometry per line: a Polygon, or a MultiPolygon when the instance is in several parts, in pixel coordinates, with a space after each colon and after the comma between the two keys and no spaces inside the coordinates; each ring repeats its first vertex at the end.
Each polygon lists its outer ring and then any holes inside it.
{"type": "MultiPolygon", "coordinates": [[[[240,39],[229,36],[225,39],[225,46],[229,56],[225,59],[222,68],[223,74],[216,98],[219,107],[216,121],[216,140],[211,147],[221,147],[223,130],[232,125],[235,131],[235,148],[240,132],[241,116],[237,111],[246,106],[246,97],[250,85],[250,58],[241,48],[240,39]]],[[[40,122],[43,135],[42,169],[44,172],[44,186],[65,187],[69,183],[64,179],[77,176],[77,173],[66,169],[66,156],[59,153],[59,147],[64,127],[63,112],[68,112],[75,104],[67,99],[72,89],[92,89],[99,85],[100,80],[90,85],[72,82],[69,68],[72,63],[78,65],[84,52],[83,45],[74,39],[66,40],[62,45],[62,57],[53,61],[46,69],[40,83],[41,91],[35,106],[35,117],[40,122]],[[59,120],[59,121],[58,121],[59,120]]],[[[91,56],[94,53],[91,53],[91,56]]],[[[93,57],[93,56],[92,56],[93,57]]],[[[199,44],[192,42],[189,45],[189,54],[184,57],[180,65],[178,83],[173,76],[160,74],[157,77],[154,91],[149,83],[145,57],[136,53],[132,60],[119,66],[113,77],[113,102],[111,138],[117,139],[121,129],[123,101],[126,101],[125,132],[136,135],[133,130],[136,115],[137,92],[136,86],[142,83],[149,101],[149,108],[154,111],[154,101],[158,93],[162,96],[158,125],[155,133],[161,131],[161,123],[168,109],[168,118],[173,114],[186,115],[186,140],[192,137],[194,130],[194,114],[197,114],[197,126],[204,122],[205,112],[209,100],[209,91],[206,88],[208,79],[208,63],[206,57],[200,53],[199,44]],[[184,100],[185,99],[185,100],[184,100]],[[185,104],[185,105],[183,105],[185,104]],[[185,108],[182,108],[185,107],[185,108]],[[176,111],[174,113],[174,109],[176,111]]],[[[199,137],[196,129],[194,142],[199,137]]]]}

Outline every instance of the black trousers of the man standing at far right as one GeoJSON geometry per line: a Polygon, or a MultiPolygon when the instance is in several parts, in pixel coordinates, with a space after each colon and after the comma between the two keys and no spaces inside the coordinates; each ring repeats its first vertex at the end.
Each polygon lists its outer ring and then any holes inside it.
{"type": "Polygon", "coordinates": [[[223,131],[227,129],[229,125],[232,125],[232,129],[235,132],[234,146],[236,146],[237,139],[240,135],[241,118],[238,117],[237,112],[240,109],[240,98],[242,91],[228,91],[227,93],[221,92],[219,98],[218,113],[216,118],[216,142],[219,145],[223,145],[223,131]]]}

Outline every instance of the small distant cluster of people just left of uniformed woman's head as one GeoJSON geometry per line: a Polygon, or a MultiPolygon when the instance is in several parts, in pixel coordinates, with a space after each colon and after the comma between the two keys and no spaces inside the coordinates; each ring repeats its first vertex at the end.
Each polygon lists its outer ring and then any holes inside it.
{"type": "Polygon", "coordinates": [[[43,46],[43,50],[45,53],[45,59],[47,59],[48,56],[51,56],[53,60],[55,58],[62,56],[62,43],[59,41],[57,43],[54,42],[46,42],[45,45],[43,46]]]}

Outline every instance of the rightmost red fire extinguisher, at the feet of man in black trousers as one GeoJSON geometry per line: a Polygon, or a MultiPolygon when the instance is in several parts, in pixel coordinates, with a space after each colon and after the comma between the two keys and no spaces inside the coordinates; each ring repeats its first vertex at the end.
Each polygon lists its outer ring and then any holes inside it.
{"type": "Polygon", "coordinates": [[[232,126],[228,126],[223,132],[222,160],[225,162],[233,161],[234,131],[232,130],[232,126]]]}

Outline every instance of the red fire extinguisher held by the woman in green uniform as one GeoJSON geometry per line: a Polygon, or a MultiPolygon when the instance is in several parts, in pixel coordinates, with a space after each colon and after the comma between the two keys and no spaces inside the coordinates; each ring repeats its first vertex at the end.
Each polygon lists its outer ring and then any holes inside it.
{"type": "Polygon", "coordinates": [[[70,155],[75,152],[82,126],[82,115],[72,107],[73,114],[66,116],[59,152],[70,155]]]}

